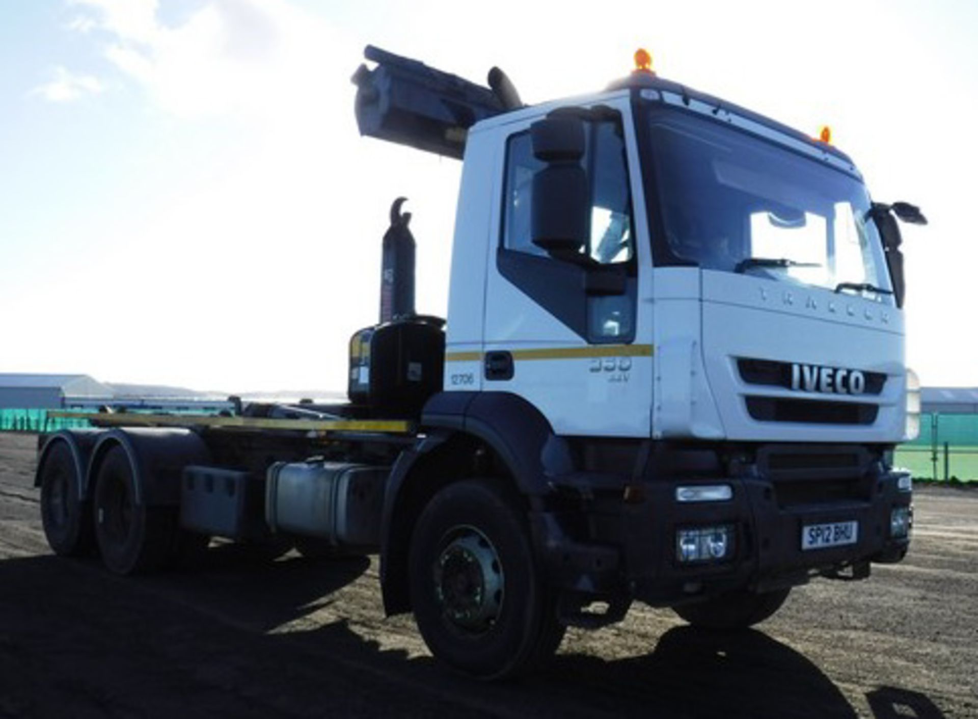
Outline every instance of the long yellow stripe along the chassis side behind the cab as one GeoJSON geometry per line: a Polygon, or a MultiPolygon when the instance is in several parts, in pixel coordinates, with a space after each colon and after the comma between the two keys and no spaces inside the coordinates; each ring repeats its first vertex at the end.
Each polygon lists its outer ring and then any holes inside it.
{"type": "Polygon", "coordinates": [[[143,415],[135,412],[49,412],[49,417],[89,420],[115,427],[225,427],[238,429],[301,429],[312,432],[366,431],[406,434],[413,430],[401,420],[274,420],[264,417],[214,415],[143,415]]]}

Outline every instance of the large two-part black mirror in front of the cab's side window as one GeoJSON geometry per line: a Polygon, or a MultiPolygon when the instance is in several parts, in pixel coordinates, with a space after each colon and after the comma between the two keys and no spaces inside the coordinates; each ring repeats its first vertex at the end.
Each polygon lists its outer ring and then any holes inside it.
{"type": "Polygon", "coordinates": [[[556,256],[580,254],[587,247],[591,227],[591,189],[581,166],[584,120],[548,117],[530,126],[530,137],[534,157],[547,163],[533,176],[533,244],[556,256]]]}

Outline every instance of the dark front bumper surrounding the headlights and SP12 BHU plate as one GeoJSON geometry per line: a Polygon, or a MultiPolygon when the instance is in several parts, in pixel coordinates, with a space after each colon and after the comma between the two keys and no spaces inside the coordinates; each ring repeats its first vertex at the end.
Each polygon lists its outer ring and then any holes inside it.
{"type": "Polygon", "coordinates": [[[858,496],[825,499],[814,492],[799,498],[785,485],[759,477],[709,479],[728,484],[730,500],[681,503],[676,487],[692,481],[654,480],[643,484],[641,501],[622,502],[616,517],[588,517],[603,526],[597,539],[571,539],[559,517],[534,517],[534,536],[552,581],[563,590],[596,596],[628,596],[652,606],[687,601],[751,588],[768,591],[803,584],[818,574],[839,575],[853,567],[867,575],[868,562],[899,562],[910,537],[891,536],[894,508],[911,507],[911,493],[901,491],[903,472],[881,472],[859,480],[858,496]],[[803,527],[844,521],[859,522],[854,544],[802,549],[803,527]],[[677,532],[694,527],[733,526],[733,555],[718,562],[680,562],[677,532]],[[609,528],[610,527],[610,528],[609,528]],[[600,535],[603,534],[603,537],[600,535]]]}

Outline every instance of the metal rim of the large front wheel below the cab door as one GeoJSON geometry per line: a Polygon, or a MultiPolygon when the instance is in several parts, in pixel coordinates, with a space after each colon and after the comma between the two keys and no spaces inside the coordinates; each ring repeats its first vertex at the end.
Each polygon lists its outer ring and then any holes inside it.
{"type": "Polygon", "coordinates": [[[505,576],[496,547],[474,527],[445,535],[434,564],[435,597],[445,618],[473,634],[492,628],[503,607],[505,576]]]}

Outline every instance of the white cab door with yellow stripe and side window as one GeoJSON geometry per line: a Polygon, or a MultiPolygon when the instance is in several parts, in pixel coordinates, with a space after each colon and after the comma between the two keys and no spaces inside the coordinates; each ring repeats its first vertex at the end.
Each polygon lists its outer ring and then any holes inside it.
{"type": "Polygon", "coordinates": [[[590,231],[581,256],[569,259],[531,237],[533,178],[546,163],[534,155],[530,125],[541,117],[504,128],[483,389],[522,396],[558,434],[648,436],[652,348],[640,267],[650,258],[647,243],[637,241],[647,234],[645,212],[635,206],[642,194],[630,159],[637,157],[630,112],[625,99],[580,110],[590,231]]]}

